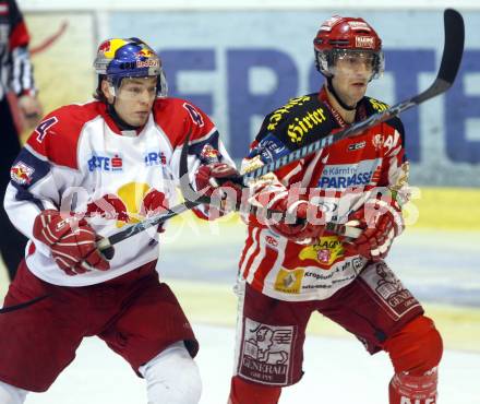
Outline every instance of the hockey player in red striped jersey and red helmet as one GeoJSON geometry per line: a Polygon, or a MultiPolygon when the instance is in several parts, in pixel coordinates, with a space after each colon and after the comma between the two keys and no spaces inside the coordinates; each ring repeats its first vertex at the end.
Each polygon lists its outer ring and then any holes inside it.
{"type": "MultiPolygon", "coordinates": [[[[314,38],[314,51],[325,84],[266,116],[243,170],[386,107],[365,96],[384,69],[381,39],[365,21],[331,17],[314,38]]],[[[407,176],[404,127],[394,118],[251,185],[252,204],[289,215],[249,217],[231,404],[278,403],[281,388],[300,381],[314,311],[356,335],[371,354],[388,353],[389,404],[436,403],[441,336],[384,261],[404,228],[407,176]],[[325,222],[362,234],[344,239],[328,233],[325,222]]],[[[358,393],[359,403],[368,401],[358,393]]]]}

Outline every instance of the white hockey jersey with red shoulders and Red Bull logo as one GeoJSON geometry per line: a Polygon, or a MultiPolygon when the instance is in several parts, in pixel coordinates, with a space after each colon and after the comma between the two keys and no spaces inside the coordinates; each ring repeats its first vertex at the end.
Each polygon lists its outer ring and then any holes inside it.
{"type": "MultiPolygon", "coordinates": [[[[33,224],[40,211],[84,214],[101,237],[148,216],[152,192],[163,193],[168,206],[176,200],[179,159],[191,133],[189,173],[201,164],[205,145],[233,165],[217,129],[194,105],[178,98],[157,99],[139,131],[120,131],[106,105],[69,105],[49,114],[29,136],[11,169],[4,206],[12,223],[29,238],[26,263],[39,278],[56,285],[92,285],[122,275],[158,258],[156,229],[142,231],[115,246],[109,271],[69,276],[50,250],[34,239],[33,224]]],[[[192,180],[192,178],[191,178],[192,180]]],[[[201,209],[195,212],[206,218],[201,209]]]]}

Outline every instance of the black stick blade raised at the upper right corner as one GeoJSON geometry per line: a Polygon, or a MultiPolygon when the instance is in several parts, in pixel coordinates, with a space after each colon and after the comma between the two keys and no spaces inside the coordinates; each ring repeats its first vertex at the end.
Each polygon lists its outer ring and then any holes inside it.
{"type": "Polygon", "coordinates": [[[461,14],[454,9],[446,9],[443,17],[445,23],[445,49],[440,64],[439,79],[452,85],[464,55],[465,24],[461,14]]]}

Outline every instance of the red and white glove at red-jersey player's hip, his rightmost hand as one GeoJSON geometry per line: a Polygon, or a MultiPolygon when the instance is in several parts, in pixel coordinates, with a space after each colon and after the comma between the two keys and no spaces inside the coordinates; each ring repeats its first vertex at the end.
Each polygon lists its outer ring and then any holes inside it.
{"type": "Polygon", "coordinates": [[[350,225],[363,229],[359,238],[344,243],[347,253],[358,253],[371,261],[383,260],[393,240],[404,229],[401,213],[395,203],[381,200],[368,201],[349,216],[350,225]]]}

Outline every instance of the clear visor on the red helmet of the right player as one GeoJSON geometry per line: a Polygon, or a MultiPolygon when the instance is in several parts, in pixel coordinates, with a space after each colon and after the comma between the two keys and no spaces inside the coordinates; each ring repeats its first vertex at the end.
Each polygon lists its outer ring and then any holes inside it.
{"type": "Polygon", "coordinates": [[[357,63],[363,63],[372,69],[372,75],[369,81],[379,79],[385,70],[385,58],[383,51],[372,51],[362,49],[332,49],[316,50],[316,67],[326,78],[332,78],[336,73],[336,63],[338,60],[346,61],[347,66],[355,67],[357,63]]]}

